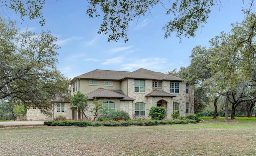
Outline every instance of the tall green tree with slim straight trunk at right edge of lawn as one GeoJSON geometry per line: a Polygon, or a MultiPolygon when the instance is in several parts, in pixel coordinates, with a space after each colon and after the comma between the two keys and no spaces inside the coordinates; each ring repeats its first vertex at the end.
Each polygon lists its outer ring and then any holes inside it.
{"type": "Polygon", "coordinates": [[[223,32],[210,41],[218,54],[209,58],[212,81],[226,95],[225,118],[228,121],[228,99],[240,82],[250,82],[251,70],[255,67],[256,14],[245,12],[244,21],[233,24],[230,33],[223,32]]]}

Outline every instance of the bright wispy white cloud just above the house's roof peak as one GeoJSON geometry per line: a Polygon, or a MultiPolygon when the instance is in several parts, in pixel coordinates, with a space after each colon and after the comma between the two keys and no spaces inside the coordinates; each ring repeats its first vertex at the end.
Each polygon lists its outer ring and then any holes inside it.
{"type": "Polygon", "coordinates": [[[123,64],[121,70],[133,71],[134,69],[145,68],[145,69],[161,69],[163,64],[166,63],[167,59],[164,58],[145,58],[135,60],[128,64],[123,64]]]}

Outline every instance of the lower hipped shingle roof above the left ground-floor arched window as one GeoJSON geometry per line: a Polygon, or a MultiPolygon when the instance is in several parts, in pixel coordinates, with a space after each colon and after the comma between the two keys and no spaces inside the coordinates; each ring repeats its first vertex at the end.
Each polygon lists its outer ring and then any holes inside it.
{"type": "Polygon", "coordinates": [[[135,100],[130,97],[127,97],[121,90],[109,90],[104,88],[95,89],[94,91],[86,94],[85,96],[88,96],[89,100],[94,100],[95,98],[116,98],[120,99],[120,101],[135,100]]]}

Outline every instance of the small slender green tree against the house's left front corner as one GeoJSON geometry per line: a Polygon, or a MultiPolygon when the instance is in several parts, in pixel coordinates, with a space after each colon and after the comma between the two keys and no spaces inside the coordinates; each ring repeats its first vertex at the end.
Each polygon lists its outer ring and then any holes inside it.
{"type": "MultiPolygon", "coordinates": [[[[88,97],[86,97],[80,91],[77,91],[73,95],[72,100],[71,100],[72,107],[76,108],[78,111],[82,111],[82,114],[84,115],[84,117],[86,117],[86,119],[89,120],[88,117],[85,114],[86,109],[88,107],[88,103],[87,102],[88,102],[88,97]]],[[[82,115],[82,118],[83,118],[83,115],[82,115]]]]}

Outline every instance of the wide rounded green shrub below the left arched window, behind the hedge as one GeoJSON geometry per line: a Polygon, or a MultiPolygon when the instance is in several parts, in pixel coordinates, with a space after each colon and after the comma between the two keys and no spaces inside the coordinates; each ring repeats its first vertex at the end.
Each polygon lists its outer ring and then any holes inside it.
{"type": "Polygon", "coordinates": [[[130,120],[130,116],[126,111],[108,111],[102,115],[102,118],[107,118],[108,120],[130,120]]]}

